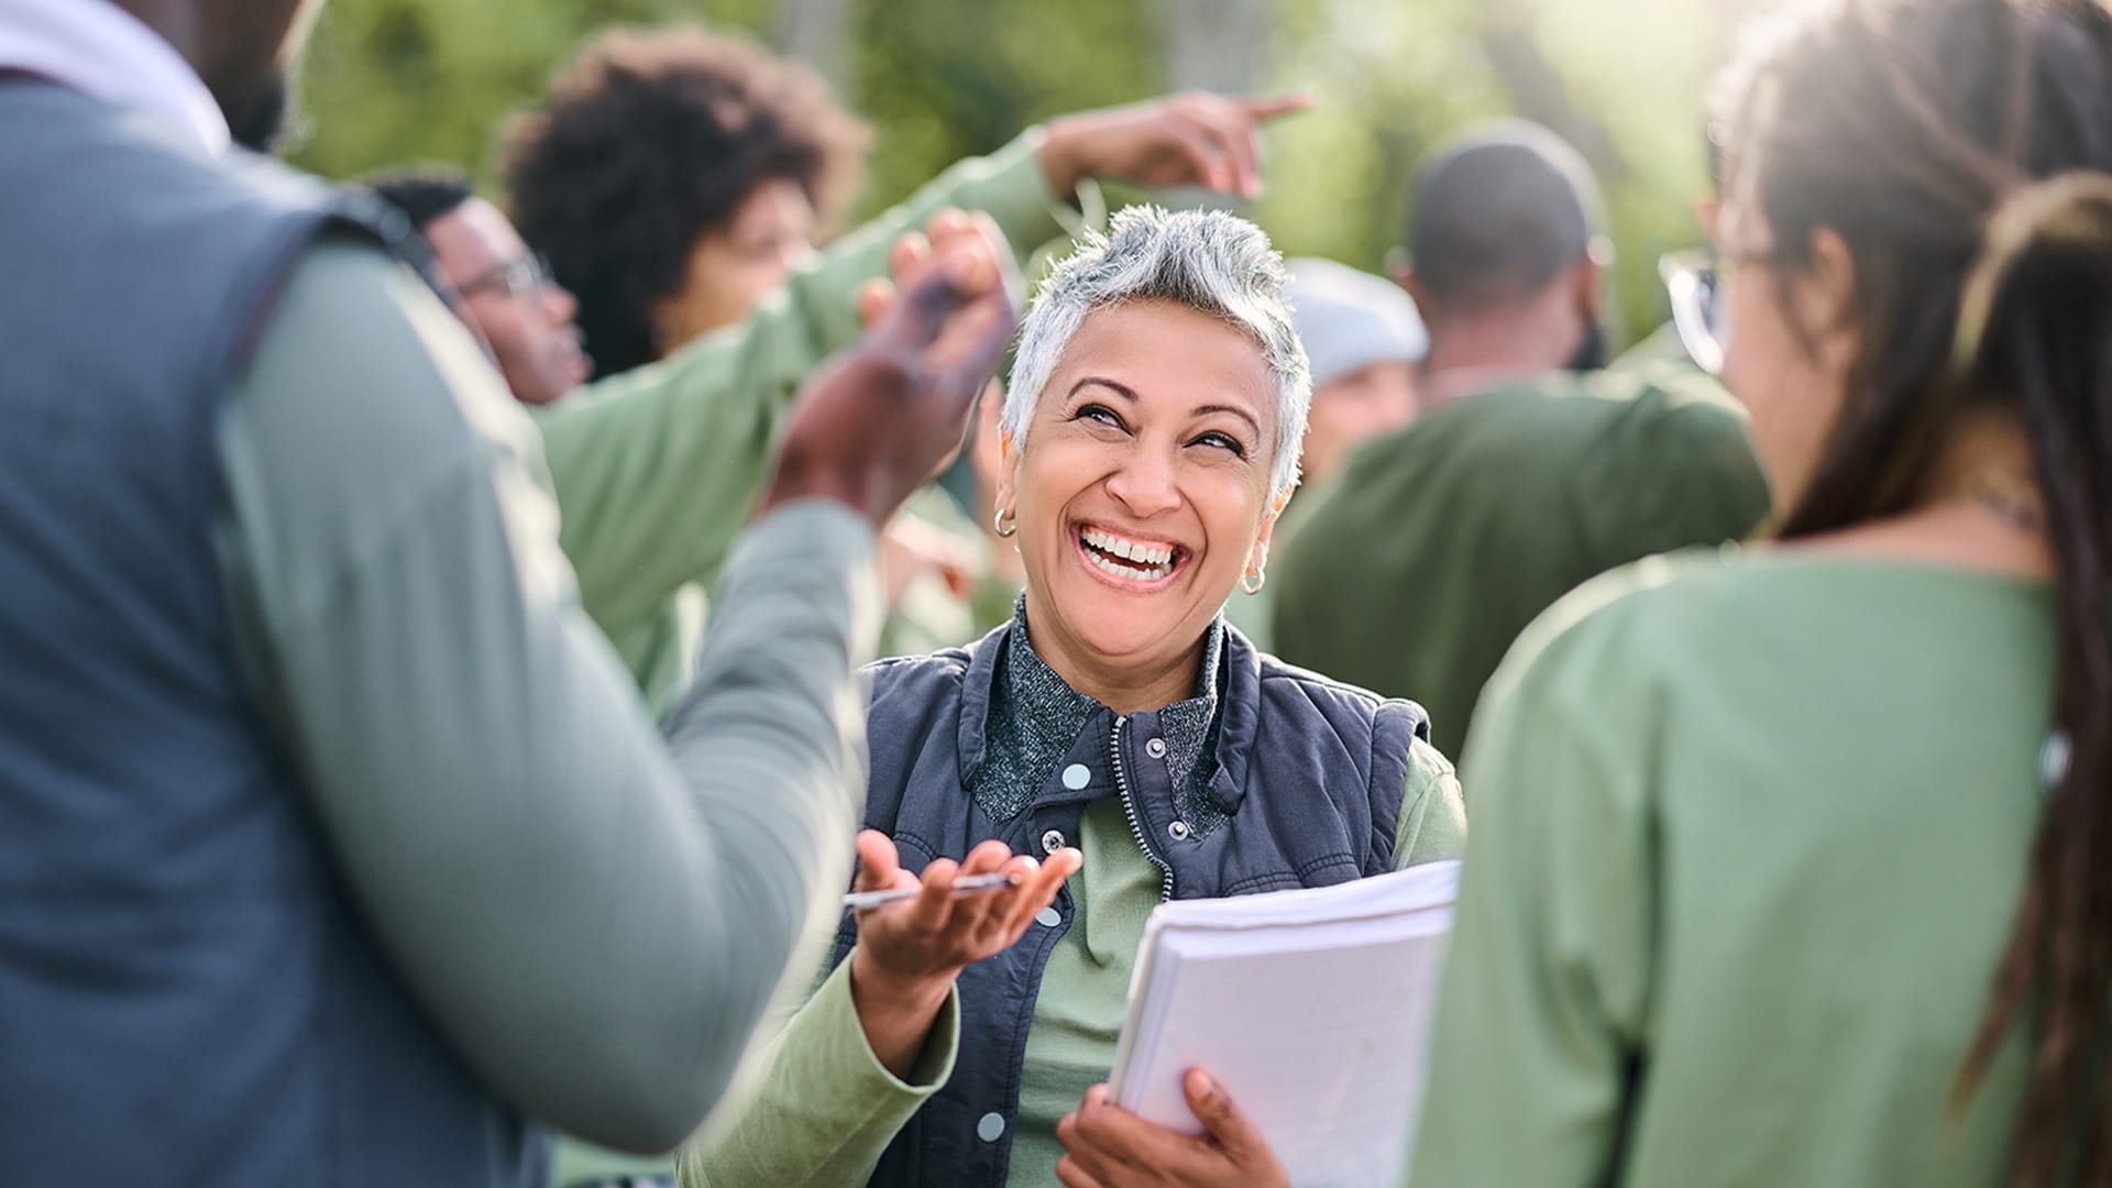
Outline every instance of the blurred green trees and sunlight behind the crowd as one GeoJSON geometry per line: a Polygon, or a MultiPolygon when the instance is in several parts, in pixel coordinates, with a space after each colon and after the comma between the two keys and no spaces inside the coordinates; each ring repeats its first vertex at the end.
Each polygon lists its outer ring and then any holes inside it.
{"type": "MultiPolygon", "coordinates": [[[[1383,271],[1415,161],[1521,114],[1605,184],[1616,338],[1662,321],[1656,258],[1700,239],[1702,95],[1755,0],[332,0],[306,66],[329,112],[294,161],[332,178],[435,161],[490,182],[509,112],[591,32],[701,23],[828,76],[872,123],[860,214],[1069,110],[1176,89],[1307,91],[1248,214],[1288,256],[1383,271]]],[[[1121,194],[1111,194],[1121,199],[1121,194]]]]}

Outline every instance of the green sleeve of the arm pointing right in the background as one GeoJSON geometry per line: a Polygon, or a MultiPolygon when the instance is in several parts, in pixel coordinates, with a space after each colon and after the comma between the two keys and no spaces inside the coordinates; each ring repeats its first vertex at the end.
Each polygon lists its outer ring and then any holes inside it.
{"type": "Polygon", "coordinates": [[[1056,194],[1031,129],[957,163],[792,275],[739,326],[604,378],[541,412],[560,539],[581,605],[646,702],[686,685],[703,632],[703,586],[769,478],[784,412],[819,361],[857,338],[857,290],[887,249],[944,207],[986,211],[1024,260],[1098,220],[1098,194],[1056,194]]]}

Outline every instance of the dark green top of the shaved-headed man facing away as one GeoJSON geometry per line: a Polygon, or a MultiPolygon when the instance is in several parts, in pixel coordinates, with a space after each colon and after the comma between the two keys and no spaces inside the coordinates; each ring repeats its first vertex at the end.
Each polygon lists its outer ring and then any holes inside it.
{"type": "Polygon", "coordinates": [[[1457,755],[1525,624],[1614,567],[1742,539],[1768,514],[1745,412],[1715,380],[1554,372],[1360,448],[1269,567],[1276,653],[1413,698],[1457,755]]]}

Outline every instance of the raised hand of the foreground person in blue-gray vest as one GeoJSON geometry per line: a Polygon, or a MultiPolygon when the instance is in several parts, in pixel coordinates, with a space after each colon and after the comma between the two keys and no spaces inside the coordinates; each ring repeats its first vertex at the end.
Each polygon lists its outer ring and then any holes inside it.
{"type": "Polygon", "coordinates": [[[961,448],[1012,340],[1016,279],[995,222],[948,211],[934,228],[942,220],[946,235],[908,271],[914,283],[800,393],[762,512],[824,497],[885,524],[961,448]]]}

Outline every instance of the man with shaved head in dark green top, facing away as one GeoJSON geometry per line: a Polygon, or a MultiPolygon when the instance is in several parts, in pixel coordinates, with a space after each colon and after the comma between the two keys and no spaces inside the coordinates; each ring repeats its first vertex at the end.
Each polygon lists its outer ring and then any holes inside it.
{"type": "Polygon", "coordinates": [[[1603,203],[1523,120],[1423,165],[1402,285],[1430,330],[1421,414],[1312,495],[1278,560],[1284,660],[1430,710],[1459,755],[1483,683],[1580,581],[1751,533],[1745,416],[1700,372],[1605,364],[1603,203]]]}

